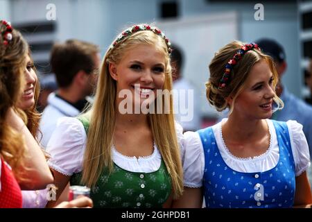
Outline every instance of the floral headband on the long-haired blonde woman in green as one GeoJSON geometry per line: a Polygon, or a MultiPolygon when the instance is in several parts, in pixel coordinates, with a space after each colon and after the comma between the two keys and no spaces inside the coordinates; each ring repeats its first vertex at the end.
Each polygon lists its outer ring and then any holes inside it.
{"type": "Polygon", "coordinates": [[[171,53],[171,51],[172,51],[171,43],[166,38],[164,33],[162,33],[162,31],[160,31],[157,28],[150,27],[148,24],[140,24],[140,25],[131,26],[130,28],[125,30],[123,33],[121,33],[116,38],[116,40],[110,46],[110,49],[113,49],[117,44],[119,44],[119,42],[121,42],[123,39],[125,39],[125,37],[128,37],[129,35],[132,35],[133,33],[137,33],[138,31],[152,31],[155,34],[160,35],[164,39],[164,41],[166,42],[166,45],[168,47],[168,53],[169,54],[171,53]]]}

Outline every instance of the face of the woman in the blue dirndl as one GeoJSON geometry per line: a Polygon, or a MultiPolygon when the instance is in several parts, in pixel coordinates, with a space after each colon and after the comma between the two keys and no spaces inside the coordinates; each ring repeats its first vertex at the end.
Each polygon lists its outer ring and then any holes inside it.
{"type": "Polygon", "coordinates": [[[273,74],[266,60],[260,60],[250,69],[239,96],[234,101],[234,116],[247,119],[267,119],[272,116],[275,96],[273,74]]]}

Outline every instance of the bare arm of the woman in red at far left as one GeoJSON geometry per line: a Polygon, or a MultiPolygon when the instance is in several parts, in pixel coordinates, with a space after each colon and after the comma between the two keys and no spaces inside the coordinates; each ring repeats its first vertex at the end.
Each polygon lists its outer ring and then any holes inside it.
{"type": "Polygon", "coordinates": [[[21,189],[44,189],[46,185],[53,183],[53,176],[46,163],[46,158],[41,151],[39,144],[31,135],[24,121],[18,114],[10,108],[6,115],[6,122],[12,128],[24,135],[26,144],[26,157],[24,159],[24,168],[19,169],[22,174],[28,179],[25,182],[19,182],[21,189]],[[30,182],[31,181],[31,182],[30,182]]]}

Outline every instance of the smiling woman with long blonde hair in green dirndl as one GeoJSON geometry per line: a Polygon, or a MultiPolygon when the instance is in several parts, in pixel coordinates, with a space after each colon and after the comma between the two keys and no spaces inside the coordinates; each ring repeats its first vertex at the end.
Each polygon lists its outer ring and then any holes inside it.
{"type": "Polygon", "coordinates": [[[147,24],[112,42],[94,105],[61,119],[49,141],[58,196],[69,181],[91,187],[94,207],[169,207],[182,194],[182,129],[173,120],[171,95],[157,94],[171,90],[170,52],[164,34],[147,24]],[[159,109],[135,112],[143,106],[159,109]]]}

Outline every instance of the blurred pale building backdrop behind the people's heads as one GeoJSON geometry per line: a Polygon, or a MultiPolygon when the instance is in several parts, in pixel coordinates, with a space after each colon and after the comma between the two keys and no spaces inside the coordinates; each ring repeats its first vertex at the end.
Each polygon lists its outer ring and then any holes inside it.
{"type": "Polygon", "coordinates": [[[0,17],[31,44],[42,87],[55,87],[49,65],[54,42],[77,38],[105,54],[116,34],[136,23],[154,23],[184,53],[183,76],[198,89],[202,126],[217,118],[205,98],[208,65],[232,40],[277,40],[286,51],[283,83],[304,99],[304,75],[312,57],[312,1],[225,0],[0,0],[0,17]]]}

